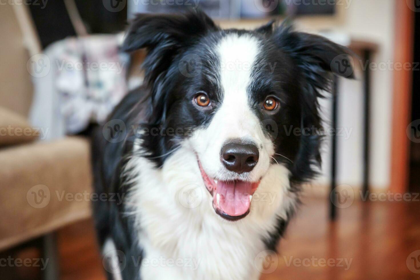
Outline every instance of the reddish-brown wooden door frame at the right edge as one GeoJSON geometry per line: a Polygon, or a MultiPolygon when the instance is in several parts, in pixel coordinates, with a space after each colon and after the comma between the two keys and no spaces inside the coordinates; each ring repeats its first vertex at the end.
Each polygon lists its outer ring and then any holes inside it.
{"type": "MultiPolygon", "coordinates": [[[[414,50],[414,11],[406,1],[395,0],[394,62],[412,62],[414,50]]],[[[390,191],[408,191],[410,141],[406,129],[411,117],[412,71],[394,71],[391,126],[390,191]]]]}

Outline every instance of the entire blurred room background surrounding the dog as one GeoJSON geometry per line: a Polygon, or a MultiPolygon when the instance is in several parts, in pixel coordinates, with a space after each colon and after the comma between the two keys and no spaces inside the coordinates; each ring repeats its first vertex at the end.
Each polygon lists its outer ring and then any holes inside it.
{"type": "Polygon", "coordinates": [[[1,279],[105,279],[88,135],[142,84],[127,22],[191,8],[223,28],[288,18],[354,52],[357,79],[320,101],[321,176],[261,279],[420,279],[420,1],[0,0],[1,279]]]}

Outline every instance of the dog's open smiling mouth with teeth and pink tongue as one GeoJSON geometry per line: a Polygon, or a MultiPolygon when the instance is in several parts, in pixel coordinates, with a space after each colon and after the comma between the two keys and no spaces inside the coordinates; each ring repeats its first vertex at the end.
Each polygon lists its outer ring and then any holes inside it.
{"type": "Polygon", "coordinates": [[[207,190],[213,197],[215,212],[226,220],[236,221],[249,214],[252,194],[254,194],[260,181],[221,181],[210,178],[198,161],[201,176],[207,190]]]}

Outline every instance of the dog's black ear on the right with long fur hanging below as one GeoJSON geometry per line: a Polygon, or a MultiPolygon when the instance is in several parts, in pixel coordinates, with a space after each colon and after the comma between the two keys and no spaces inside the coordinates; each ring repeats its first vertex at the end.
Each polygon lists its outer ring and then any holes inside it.
{"type": "MultiPolygon", "coordinates": [[[[302,95],[299,97],[302,129],[321,128],[318,97],[323,97],[322,90],[331,91],[332,73],[354,78],[351,52],[324,37],[294,31],[287,24],[276,28],[271,38],[299,68],[298,75],[302,83],[302,95]]],[[[316,174],[308,162],[320,165],[320,139],[319,133],[301,137],[299,153],[291,170],[294,180],[302,181],[316,174]]]]}

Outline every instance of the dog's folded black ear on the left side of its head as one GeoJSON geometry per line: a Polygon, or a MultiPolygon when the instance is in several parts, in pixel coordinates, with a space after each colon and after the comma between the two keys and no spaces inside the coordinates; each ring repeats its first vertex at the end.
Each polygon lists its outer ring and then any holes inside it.
{"type": "Polygon", "coordinates": [[[155,81],[169,67],[180,48],[195,42],[209,30],[217,29],[214,22],[197,9],[177,15],[138,14],[126,32],[122,50],[131,52],[147,48],[143,68],[146,79],[155,81]]]}

